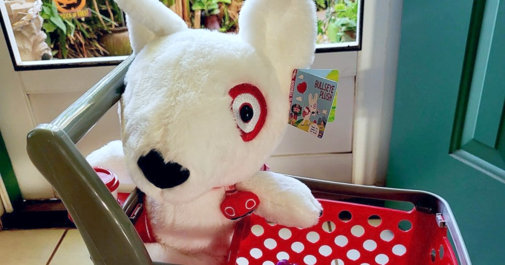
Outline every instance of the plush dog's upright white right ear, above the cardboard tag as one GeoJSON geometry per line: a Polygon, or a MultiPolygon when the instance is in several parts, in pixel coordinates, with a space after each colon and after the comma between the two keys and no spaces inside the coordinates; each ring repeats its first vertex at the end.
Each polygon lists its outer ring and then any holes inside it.
{"type": "Polygon", "coordinates": [[[312,65],[317,38],[314,0],[247,0],[238,25],[239,36],[272,61],[283,83],[289,83],[294,69],[312,65]]]}

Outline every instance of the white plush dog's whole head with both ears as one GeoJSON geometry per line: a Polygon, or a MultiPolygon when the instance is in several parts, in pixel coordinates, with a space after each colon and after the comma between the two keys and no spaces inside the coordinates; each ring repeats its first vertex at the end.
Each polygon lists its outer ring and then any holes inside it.
{"type": "Polygon", "coordinates": [[[292,71],[313,62],[313,0],[246,0],[238,34],[188,29],[158,0],[116,1],[135,54],[120,116],[137,187],[177,204],[254,175],[287,125],[292,71]]]}

